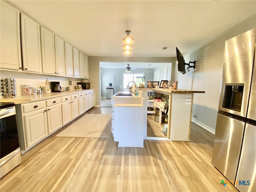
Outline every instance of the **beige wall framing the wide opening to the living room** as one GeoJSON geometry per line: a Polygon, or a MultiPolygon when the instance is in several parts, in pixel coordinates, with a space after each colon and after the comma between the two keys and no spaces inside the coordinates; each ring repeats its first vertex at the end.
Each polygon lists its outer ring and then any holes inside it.
{"type": "Polygon", "coordinates": [[[89,80],[91,88],[96,89],[96,106],[100,106],[100,62],[172,62],[171,58],[136,58],[136,57],[94,57],[89,56],[89,80]]]}

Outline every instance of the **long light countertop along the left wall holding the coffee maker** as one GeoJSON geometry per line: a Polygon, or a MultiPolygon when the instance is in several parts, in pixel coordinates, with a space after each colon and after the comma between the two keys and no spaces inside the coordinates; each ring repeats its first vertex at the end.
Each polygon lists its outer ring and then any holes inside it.
{"type": "Polygon", "coordinates": [[[14,102],[14,104],[22,104],[27,102],[34,102],[40,100],[46,100],[56,97],[62,97],[66,95],[78,94],[81,92],[92,91],[94,89],[84,89],[84,90],[70,90],[63,92],[50,92],[50,93],[42,93],[36,95],[20,95],[16,98],[0,98],[0,102],[14,102]]]}

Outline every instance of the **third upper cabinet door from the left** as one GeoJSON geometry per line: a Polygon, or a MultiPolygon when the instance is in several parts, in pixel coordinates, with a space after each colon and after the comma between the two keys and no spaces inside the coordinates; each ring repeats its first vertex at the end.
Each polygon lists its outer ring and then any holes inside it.
{"type": "Polygon", "coordinates": [[[54,34],[41,26],[41,48],[43,73],[55,74],[54,34]]]}

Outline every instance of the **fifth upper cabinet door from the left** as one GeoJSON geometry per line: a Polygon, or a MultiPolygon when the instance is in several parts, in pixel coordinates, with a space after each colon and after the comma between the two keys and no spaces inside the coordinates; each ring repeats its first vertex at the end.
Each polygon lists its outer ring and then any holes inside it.
{"type": "Polygon", "coordinates": [[[65,42],[66,76],[73,76],[73,47],[65,42]]]}

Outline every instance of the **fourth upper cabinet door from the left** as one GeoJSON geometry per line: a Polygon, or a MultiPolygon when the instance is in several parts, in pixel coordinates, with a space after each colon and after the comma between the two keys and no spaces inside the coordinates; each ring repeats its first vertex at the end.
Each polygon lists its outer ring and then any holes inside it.
{"type": "Polygon", "coordinates": [[[65,48],[64,40],[55,36],[55,64],[56,74],[65,75],[65,48]]]}

